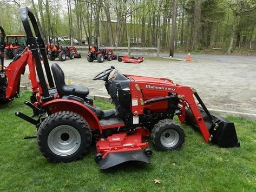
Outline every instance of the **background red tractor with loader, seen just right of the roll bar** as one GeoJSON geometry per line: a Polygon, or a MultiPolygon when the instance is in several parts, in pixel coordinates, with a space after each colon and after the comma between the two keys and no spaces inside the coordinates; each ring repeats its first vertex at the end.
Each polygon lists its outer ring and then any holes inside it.
{"type": "Polygon", "coordinates": [[[46,46],[47,56],[50,61],[54,61],[56,58],[60,61],[65,61],[66,57],[70,59],[81,58],[81,54],[78,54],[74,46],[62,46],[57,36],[49,36],[49,44],[46,46]]]}

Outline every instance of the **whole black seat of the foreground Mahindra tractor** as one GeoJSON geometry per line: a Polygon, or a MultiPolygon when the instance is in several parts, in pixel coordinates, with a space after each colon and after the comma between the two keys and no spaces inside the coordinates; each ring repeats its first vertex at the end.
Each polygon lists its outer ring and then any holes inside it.
{"type": "Polygon", "coordinates": [[[89,94],[89,89],[86,86],[76,86],[65,84],[65,76],[60,65],[57,63],[52,63],[51,65],[52,75],[54,76],[54,81],[58,95],[61,97],[64,95],[75,95],[77,97],[86,97],[89,94]]]}

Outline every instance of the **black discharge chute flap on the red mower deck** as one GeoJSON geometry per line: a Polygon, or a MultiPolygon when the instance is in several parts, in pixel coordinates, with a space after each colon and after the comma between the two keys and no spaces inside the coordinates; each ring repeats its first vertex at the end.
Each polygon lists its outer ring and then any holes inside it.
{"type": "Polygon", "coordinates": [[[145,153],[143,153],[142,150],[132,150],[108,154],[106,158],[103,158],[103,160],[99,162],[99,168],[108,169],[128,161],[137,161],[150,164],[149,158],[145,155],[145,153]]]}

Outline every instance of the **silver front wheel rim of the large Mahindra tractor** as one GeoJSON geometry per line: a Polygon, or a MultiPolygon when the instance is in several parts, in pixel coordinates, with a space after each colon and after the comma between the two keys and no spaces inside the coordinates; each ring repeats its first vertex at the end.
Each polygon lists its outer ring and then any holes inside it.
{"type": "Polygon", "coordinates": [[[179,142],[179,133],[173,129],[163,131],[160,142],[163,147],[172,148],[179,142]]]}

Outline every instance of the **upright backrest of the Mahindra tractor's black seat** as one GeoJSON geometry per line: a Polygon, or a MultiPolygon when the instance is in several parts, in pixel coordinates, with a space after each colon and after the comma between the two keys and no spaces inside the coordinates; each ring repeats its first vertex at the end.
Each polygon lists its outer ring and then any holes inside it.
{"type": "Polygon", "coordinates": [[[63,95],[63,92],[64,92],[63,87],[65,85],[64,72],[62,71],[60,65],[58,65],[57,63],[52,63],[51,71],[52,71],[52,75],[54,76],[54,81],[55,81],[58,94],[63,95]]]}

